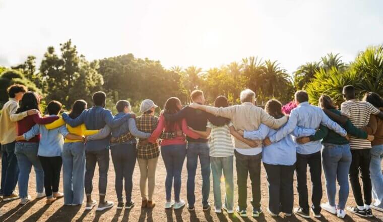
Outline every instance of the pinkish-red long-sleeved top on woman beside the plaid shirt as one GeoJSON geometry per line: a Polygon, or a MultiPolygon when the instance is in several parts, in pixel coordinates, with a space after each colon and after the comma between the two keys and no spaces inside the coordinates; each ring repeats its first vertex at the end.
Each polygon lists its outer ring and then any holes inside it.
{"type": "MultiPolygon", "coordinates": [[[[197,133],[193,132],[192,130],[189,130],[187,128],[187,123],[185,119],[182,119],[181,121],[181,129],[179,127],[179,124],[174,124],[170,127],[169,129],[168,126],[165,124],[165,118],[163,115],[160,116],[160,120],[158,121],[157,128],[153,131],[152,135],[148,138],[148,141],[150,143],[153,143],[156,141],[156,139],[161,135],[162,131],[165,129],[166,132],[174,132],[174,131],[179,131],[182,130],[184,134],[186,134],[188,137],[193,138],[193,139],[198,139],[200,138],[200,135],[197,133]]],[[[171,139],[163,139],[161,141],[161,146],[167,146],[167,145],[183,145],[186,144],[185,141],[185,136],[179,136],[179,137],[174,137],[171,139]]]]}

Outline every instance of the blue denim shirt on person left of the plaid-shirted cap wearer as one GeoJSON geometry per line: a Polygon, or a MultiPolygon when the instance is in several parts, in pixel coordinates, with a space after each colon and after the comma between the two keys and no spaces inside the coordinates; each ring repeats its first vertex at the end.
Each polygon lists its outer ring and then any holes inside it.
{"type": "MultiPolygon", "coordinates": [[[[114,116],[114,119],[123,118],[124,116],[126,116],[125,113],[118,113],[117,115],[114,116]]],[[[136,126],[136,120],[133,118],[130,118],[128,122],[124,122],[121,126],[112,129],[112,136],[113,137],[119,137],[119,136],[121,136],[125,133],[129,133],[129,132],[134,137],[138,137],[138,138],[142,138],[142,139],[146,139],[146,138],[150,137],[150,135],[151,135],[150,133],[145,133],[145,132],[139,131],[137,129],[137,126],[136,126]]],[[[132,139],[131,141],[127,141],[126,143],[132,144],[135,142],[137,142],[136,139],[132,139]]]]}

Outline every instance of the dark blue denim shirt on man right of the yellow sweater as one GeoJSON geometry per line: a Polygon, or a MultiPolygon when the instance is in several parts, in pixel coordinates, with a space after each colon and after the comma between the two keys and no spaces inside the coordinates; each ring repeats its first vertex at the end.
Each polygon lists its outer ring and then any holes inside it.
{"type": "MultiPolygon", "coordinates": [[[[127,122],[128,118],[130,118],[130,115],[125,114],[123,117],[115,119],[109,109],[105,109],[101,106],[93,106],[90,109],[84,110],[76,119],[70,118],[68,114],[62,114],[62,119],[71,127],[77,127],[84,123],[88,130],[99,130],[105,125],[114,129],[127,122]]],[[[85,145],[85,150],[96,151],[109,149],[109,139],[110,134],[104,139],[88,141],[85,145]]]]}

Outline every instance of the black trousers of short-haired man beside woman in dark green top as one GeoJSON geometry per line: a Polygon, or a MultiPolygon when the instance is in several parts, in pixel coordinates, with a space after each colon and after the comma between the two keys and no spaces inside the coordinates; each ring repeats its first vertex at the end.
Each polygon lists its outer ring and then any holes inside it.
{"type": "Polygon", "coordinates": [[[307,164],[310,169],[311,177],[311,202],[312,208],[315,213],[321,212],[322,200],[322,162],[321,151],[311,154],[296,154],[296,179],[297,190],[299,194],[299,206],[302,207],[303,212],[309,213],[308,205],[308,192],[307,192],[307,164]]]}

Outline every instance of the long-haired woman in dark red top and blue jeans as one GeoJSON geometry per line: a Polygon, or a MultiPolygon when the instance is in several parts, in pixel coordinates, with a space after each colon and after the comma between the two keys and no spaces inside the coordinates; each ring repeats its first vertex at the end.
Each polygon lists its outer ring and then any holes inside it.
{"type": "MultiPolygon", "coordinates": [[[[27,92],[23,95],[21,99],[20,107],[17,109],[16,113],[22,113],[30,109],[40,110],[40,98],[37,94],[33,92],[27,92]]],[[[48,124],[55,120],[58,117],[46,117],[42,118],[40,114],[35,114],[24,118],[17,122],[17,136],[21,136],[24,133],[28,132],[36,124],[48,124]]],[[[16,143],[15,154],[19,164],[19,196],[21,198],[20,204],[24,205],[30,201],[28,196],[28,182],[29,174],[31,173],[31,168],[33,168],[36,173],[36,192],[37,198],[45,196],[44,193],[44,172],[41,166],[41,162],[37,156],[38,146],[40,142],[40,135],[36,135],[29,141],[20,140],[16,143]]]]}

